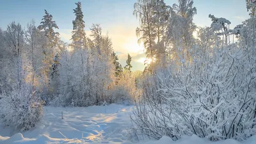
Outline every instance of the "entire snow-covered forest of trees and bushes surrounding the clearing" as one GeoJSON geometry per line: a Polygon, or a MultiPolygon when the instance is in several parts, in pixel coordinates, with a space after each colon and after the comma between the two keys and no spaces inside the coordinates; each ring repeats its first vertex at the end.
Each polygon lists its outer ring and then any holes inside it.
{"type": "Polygon", "coordinates": [[[214,13],[205,18],[211,26],[200,28],[193,22],[193,0],[177,2],[134,3],[131,15],[140,22],[134,32],[147,56],[143,72],[132,72],[130,54],[126,65],[118,62],[100,24],[86,34],[81,2],[74,4],[70,44],[47,10],[38,26],[31,20],[0,28],[0,129],[35,129],[49,106],[120,104],[133,108],[129,136],[137,141],[254,136],[256,1],[244,1],[250,18],[234,29],[214,13]]]}

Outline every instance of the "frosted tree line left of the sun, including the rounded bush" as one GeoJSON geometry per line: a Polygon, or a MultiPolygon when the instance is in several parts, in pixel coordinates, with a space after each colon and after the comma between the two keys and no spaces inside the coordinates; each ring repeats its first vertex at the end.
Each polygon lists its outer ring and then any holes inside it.
{"type": "MultiPolygon", "coordinates": [[[[122,67],[111,38],[93,24],[87,36],[81,2],[74,9],[72,42],[60,40],[58,25],[45,10],[39,26],[11,22],[0,29],[0,120],[26,131],[42,118],[43,106],[131,104],[136,78],[131,56],[122,67]],[[129,85],[127,85],[129,84],[129,85]]],[[[138,85],[138,84],[137,84],[138,85]]]]}

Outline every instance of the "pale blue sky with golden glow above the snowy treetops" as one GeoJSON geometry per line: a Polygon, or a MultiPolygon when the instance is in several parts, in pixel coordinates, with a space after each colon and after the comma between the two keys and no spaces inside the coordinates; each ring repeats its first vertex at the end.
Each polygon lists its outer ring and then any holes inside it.
{"type": "MultiPolygon", "coordinates": [[[[137,0],[81,0],[86,33],[90,35],[92,24],[100,24],[104,35],[108,33],[113,42],[113,49],[118,54],[119,62],[125,66],[127,53],[132,56],[132,70],[143,70],[145,54],[143,46],[138,45],[136,27],[139,20],[132,12],[137,0]]],[[[26,24],[32,19],[39,25],[44,10],[47,10],[56,21],[61,40],[70,42],[72,20],[75,19],[73,9],[77,0],[0,0],[0,28],[6,29],[10,22],[26,24]]],[[[172,6],[178,0],[165,0],[172,6]]],[[[249,18],[245,0],[194,0],[197,13],[194,17],[196,26],[211,25],[208,15],[224,17],[230,20],[230,28],[234,28],[249,18]]]]}

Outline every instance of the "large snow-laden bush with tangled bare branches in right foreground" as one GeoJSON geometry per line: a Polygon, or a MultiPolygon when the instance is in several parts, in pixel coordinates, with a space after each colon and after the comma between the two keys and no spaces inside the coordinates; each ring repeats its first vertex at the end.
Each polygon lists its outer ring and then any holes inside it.
{"type": "Polygon", "coordinates": [[[197,53],[187,67],[173,65],[144,81],[132,118],[138,135],[159,139],[196,134],[212,141],[256,134],[255,49],[236,45],[197,53]]]}

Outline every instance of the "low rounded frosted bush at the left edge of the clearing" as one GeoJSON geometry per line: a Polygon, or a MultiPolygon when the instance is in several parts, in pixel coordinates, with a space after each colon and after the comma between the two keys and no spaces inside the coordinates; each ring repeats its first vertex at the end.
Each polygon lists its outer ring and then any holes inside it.
{"type": "Polygon", "coordinates": [[[35,127],[43,115],[42,100],[32,86],[22,84],[12,92],[1,93],[0,124],[16,131],[27,131],[35,127]]]}

